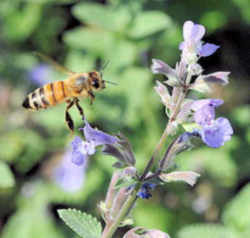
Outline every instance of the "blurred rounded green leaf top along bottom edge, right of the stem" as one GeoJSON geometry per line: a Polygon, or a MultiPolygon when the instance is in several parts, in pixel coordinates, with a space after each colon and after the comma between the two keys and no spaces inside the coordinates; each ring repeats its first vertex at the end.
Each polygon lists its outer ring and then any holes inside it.
{"type": "Polygon", "coordinates": [[[197,224],[182,228],[177,238],[237,238],[236,234],[222,225],[197,224]]]}

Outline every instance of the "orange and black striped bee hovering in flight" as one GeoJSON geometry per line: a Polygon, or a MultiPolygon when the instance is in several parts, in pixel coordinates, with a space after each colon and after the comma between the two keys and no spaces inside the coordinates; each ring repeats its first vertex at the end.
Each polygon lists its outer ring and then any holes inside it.
{"type": "Polygon", "coordinates": [[[58,70],[66,72],[69,77],[62,81],[45,84],[43,87],[29,93],[22,105],[26,109],[40,110],[66,102],[65,121],[69,129],[73,132],[74,122],[69,114],[69,109],[75,105],[81,116],[84,117],[84,112],[79,104],[78,97],[89,97],[92,104],[95,99],[94,92],[105,88],[105,81],[102,79],[102,73],[97,71],[75,73],[59,65],[48,56],[41,53],[37,54],[46,61],[52,63],[58,70]]]}

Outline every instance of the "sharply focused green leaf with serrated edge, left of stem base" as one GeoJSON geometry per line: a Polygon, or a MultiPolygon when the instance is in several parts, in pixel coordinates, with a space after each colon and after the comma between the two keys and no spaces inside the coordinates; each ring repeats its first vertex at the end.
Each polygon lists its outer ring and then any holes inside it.
{"type": "Polygon", "coordinates": [[[76,209],[58,210],[60,218],[82,238],[101,237],[101,223],[96,218],[76,209]]]}

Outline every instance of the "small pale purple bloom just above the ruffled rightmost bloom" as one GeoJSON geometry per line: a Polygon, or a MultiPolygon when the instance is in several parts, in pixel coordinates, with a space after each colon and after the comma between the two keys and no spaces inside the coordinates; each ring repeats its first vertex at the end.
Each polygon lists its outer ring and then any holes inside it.
{"type": "Polygon", "coordinates": [[[194,121],[203,126],[215,119],[215,108],[223,104],[221,99],[203,99],[193,102],[191,109],[195,111],[194,121]]]}

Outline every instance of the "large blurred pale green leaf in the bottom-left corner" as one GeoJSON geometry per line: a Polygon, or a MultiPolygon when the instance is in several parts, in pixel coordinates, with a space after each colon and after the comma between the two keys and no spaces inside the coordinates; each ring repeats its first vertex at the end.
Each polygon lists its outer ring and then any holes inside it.
{"type": "Polygon", "coordinates": [[[1,231],[1,238],[64,237],[62,231],[56,226],[50,212],[48,212],[48,194],[43,192],[41,181],[27,186],[31,186],[34,192],[29,193],[29,196],[26,197],[16,197],[18,200],[18,204],[15,205],[16,212],[8,218],[7,224],[4,225],[1,231]]]}

